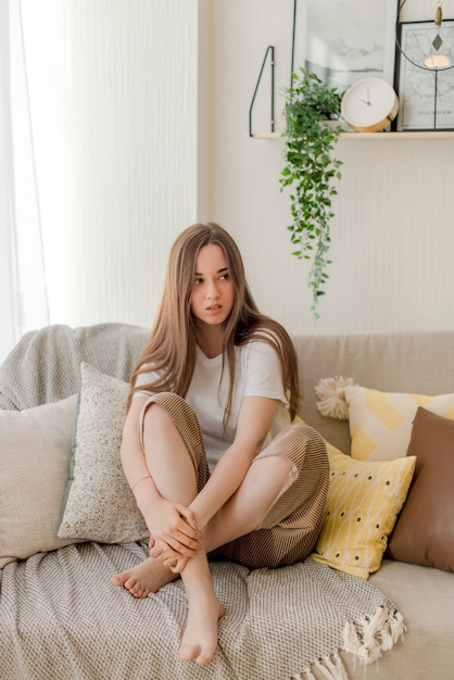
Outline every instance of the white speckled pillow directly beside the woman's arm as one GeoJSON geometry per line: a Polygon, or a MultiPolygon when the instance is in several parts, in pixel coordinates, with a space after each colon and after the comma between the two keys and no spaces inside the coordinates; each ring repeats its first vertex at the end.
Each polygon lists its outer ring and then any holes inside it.
{"type": "Polygon", "coordinates": [[[149,536],[119,457],[129,386],[83,363],[71,478],[59,537],[100,543],[149,536]]]}

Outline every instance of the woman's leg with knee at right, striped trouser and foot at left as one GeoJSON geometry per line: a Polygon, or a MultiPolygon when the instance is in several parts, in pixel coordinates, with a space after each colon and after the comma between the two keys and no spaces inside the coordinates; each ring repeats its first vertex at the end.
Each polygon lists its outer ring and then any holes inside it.
{"type": "MultiPolygon", "coordinates": [[[[273,550],[276,543],[276,537],[270,537],[273,531],[278,534],[277,542],[285,544],[289,563],[302,558],[311,552],[321,526],[328,475],[326,446],[317,432],[304,425],[288,428],[254,461],[241,487],[205,527],[206,553],[229,544],[218,555],[251,567],[278,566],[280,555],[272,555],[267,546],[273,550]],[[275,528],[282,518],[287,518],[286,526],[275,528]],[[302,545],[298,544],[304,531],[306,537],[302,545]],[[236,539],[240,541],[234,553],[236,539]],[[253,558],[250,553],[254,553],[253,558]]],[[[176,578],[155,562],[147,561],[119,575],[119,579],[114,577],[114,582],[144,597],[176,578]]]]}

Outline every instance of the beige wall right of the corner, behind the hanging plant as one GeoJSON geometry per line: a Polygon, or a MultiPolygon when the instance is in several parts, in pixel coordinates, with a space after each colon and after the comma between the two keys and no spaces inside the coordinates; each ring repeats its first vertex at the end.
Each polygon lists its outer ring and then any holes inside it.
{"type": "Polygon", "coordinates": [[[453,329],[454,134],[341,138],[333,264],[320,319],[313,320],[306,263],[290,254],[290,211],[279,191],[283,141],[244,136],[268,45],[276,48],[281,111],[292,9],[293,0],[213,0],[212,218],[239,242],[263,311],[291,331],[453,329]]]}

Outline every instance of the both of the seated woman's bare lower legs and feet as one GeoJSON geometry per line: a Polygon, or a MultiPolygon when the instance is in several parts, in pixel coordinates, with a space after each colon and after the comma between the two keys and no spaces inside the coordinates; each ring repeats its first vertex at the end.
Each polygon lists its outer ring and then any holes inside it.
{"type": "MultiPolygon", "coordinates": [[[[150,474],[164,498],[189,505],[197,494],[198,479],[193,461],[188,455],[188,446],[164,410],[153,406],[150,413],[153,415],[146,418],[143,436],[144,450],[150,451],[147,454],[150,474]]],[[[278,437],[268,448],[267,455],[261,455],[254,461],[241,487],[205,527],[204,550],[196,553],[182,570],[189,613],[179,650],[180,658],[193,659],[201,665],[212,660],[217,646],[217,621],[224,608],[214,591],[206,553],[235,542],[235,539],[241,540],[241,537],[245,539],[245,553],[254,552],[248,538],[260,533],[255,529],[261,527],[265,518],[274,520],[273,508],[279,505],[289,487],[301,477],[301,466],[297,466],[292,459],[293,450],[300,448],[297,458],[300,456],[304,459],[307,449],[313,444],[313,430],[303,426],[304,436],[301,438],[299,428],[295,426],[281,439],[278,437]],[[291,451],[292,455],[282,455],[286,450],[291,451]]],[[[326,457],[326,448],[320,438],[315,438],[315,449],[321,457],[326,457]]],[[[301,505],[298,498],[294,503],[301,505]]],[[[281,513],[280,508],[278,513],[281,513]]],[[[264,531],[267,538],[272,536],[270,530],[264,531]]],[[[244,564],[248,564],[248,559],[244,564]]],[[[133,595],[143,597],[175,578],[171,569],[150,557],[112,580],[116,585],[125,585],[133,595]]]]}

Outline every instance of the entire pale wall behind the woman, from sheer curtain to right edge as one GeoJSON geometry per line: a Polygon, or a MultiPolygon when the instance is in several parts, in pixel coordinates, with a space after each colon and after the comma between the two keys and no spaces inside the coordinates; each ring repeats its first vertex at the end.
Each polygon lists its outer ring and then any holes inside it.
{"type": "MultiPolygon", "coordinates": [[[[293,0],[21,8],[51,323],[148,326],[169,247],[199,218],[232,232],[261,307],[293,332],[454,328],[454,136],[340,140],[333,264],[312,318],[286,229],[283,141],[247,136],[268,45],[283,130],[293,0]]],[[[268,127],[268,73],[254,129],[268,127]]]]}

